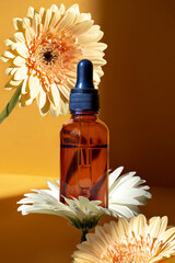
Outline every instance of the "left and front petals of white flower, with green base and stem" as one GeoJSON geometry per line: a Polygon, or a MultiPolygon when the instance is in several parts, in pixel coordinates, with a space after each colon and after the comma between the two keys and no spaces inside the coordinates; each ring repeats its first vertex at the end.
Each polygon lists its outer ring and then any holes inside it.
{"type": "Polygon", "coordinates": [[[104,208],[98,206],[102,202],[89,201],[84,196],[79,196],[79,199],[65,198],[68,205],[62,204],[59,201],[59,181],[56,182],[58,185],[47,181],[48,190],[34,190],[36,193],[24,194],[25,198],[18,202],[18,204],[22,204],[18,210],[22,211],[22,215],[34,213],[63,217],[73,227],[82,230],[83,241],[89,229],[94,228],[105,214],[104,208]]]}

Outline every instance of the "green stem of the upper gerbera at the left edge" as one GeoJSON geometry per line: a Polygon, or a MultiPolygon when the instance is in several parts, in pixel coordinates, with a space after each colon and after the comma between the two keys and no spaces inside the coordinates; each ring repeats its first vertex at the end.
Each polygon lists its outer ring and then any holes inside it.
{"type": "Polygon", "coordinates": [[[16,105],[16,103],[19,101],[20,93],[21,93],[21,87],[19,87],[16,89],[16,91],[14,92],[12,99],[10,100],[8,105],[1,112],[1,114],[0,114],[0,124],[10,115],[10,113],[15,107],[15,105],[16,105]]]}

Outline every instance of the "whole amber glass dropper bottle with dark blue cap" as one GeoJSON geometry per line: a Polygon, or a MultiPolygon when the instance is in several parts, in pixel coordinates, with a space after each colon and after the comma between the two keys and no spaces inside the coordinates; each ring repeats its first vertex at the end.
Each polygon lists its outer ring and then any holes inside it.
{"type": "Polygon", "coordinates": [[[88,59],[78,64],[69,108],[71,118],[60,132],[60,201],[85,196],[107,207],[109,136],[98,119],[100,95],[88,59]]]}

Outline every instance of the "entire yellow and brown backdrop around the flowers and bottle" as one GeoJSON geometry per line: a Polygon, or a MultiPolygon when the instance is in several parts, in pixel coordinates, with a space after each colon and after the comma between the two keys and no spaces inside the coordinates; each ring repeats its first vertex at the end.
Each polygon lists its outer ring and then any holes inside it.
{"type": "MultiPolygon", "coordinates": [[[[101,91],[101,118],[110,130],[110,168],[136,170],[152,185],[148,217],[168,215],[175,222],[175,1],[79,0],[108,44],[101,91]]],[[[0,9],[0,53],[13,33],[12,19],[27,7],[51,0],[7,0],[0,9]]],[[[12,95],[3,90],[7,65],[0,62],[0,111],[12,95]]],[[[66,117],[40,117],[37,106],[16,107],[0,126],[0,252],[3,262],[70,262],[79,232],[66,220],[16,213],[15,202],[44,178],[59,176],[59,129],[66,117]]],[[[109,218],[103,219],[103,221],[109,218]]]]}

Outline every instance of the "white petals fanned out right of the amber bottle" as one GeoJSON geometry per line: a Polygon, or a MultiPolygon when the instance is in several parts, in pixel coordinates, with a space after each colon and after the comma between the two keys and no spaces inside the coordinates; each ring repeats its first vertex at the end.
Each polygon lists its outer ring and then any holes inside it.
{"type": "Polygon", "coordinates": [[[147,204],[151,198],[145,180],[136,176],[136,172],[120,175],[124,167],[119,167],[108,178],[108,209],[114,216],[130,218],[140,213],[138,206],[147,204]]]}

